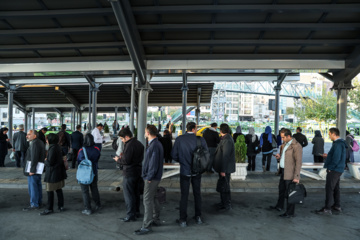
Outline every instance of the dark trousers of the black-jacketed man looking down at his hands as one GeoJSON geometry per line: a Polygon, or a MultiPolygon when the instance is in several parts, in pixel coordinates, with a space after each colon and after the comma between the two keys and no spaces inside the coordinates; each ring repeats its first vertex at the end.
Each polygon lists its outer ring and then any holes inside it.
{"type": "Polygon", "coordinates": [[[135,218],[136,213],[140,212],[140,192],[139,182],[142,178],[139,176],[123,178],[123,193],[126,206],[126,216],[135,218]]]}

